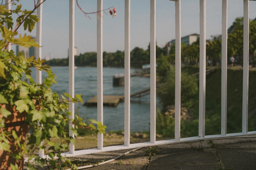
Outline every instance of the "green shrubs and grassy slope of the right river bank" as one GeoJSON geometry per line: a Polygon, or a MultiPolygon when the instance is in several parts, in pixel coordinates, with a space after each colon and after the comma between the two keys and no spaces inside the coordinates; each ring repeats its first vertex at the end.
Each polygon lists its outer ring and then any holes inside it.
{"type": "MultiPolygon", "coordinates": [[[[191,73],[194,73],[195,68],[187,67],[182,70],[184,70],[184,73],[182,73],[181,79],[186,83],[181,83],[181,100],[183,110],[180,128],[181,137],[197,136],[199,115],[199,81],[196,79],[196,77],[193,78],[193,76],[191,76],[191,73]],[[186,113],[184,113],[184,110],[186,113]]],[[[174,104],[173,84],[175,82],[175,76],[174,73],[168,75],[170,75],[168,78],[162,79],[162,89],[161,91],[158,91],[158,96],[163,102],[164,106],[174,104]]],[[[227,133],[242,132],[242,79],[242,68],[232,67],[227,70],[227,133]]],[[[255,83],[256,69],[251,69],[249,71],[248,131],[256,130],[255,83]]],[[[205,134],[220,134],[221,68],[216,68],[214,72],[211,72],[206,77],[205,109],[205,134]]],[[[157,112],[156,133],[161,137],[174,137],[174,114],[172,112],[174,112],[174,110],[170,108],[164,109],[163,111],[158,110],[157,112]]]]}

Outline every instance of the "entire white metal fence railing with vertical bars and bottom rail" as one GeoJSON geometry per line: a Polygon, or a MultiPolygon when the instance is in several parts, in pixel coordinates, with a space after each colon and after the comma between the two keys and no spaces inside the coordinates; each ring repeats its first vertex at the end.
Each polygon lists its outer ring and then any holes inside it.
{"type": "MultiPolygon", "coordinates": [[[[42,0],[41,0],[42,1],[42,0]]],[[[104,152],[111,150],[130,149],[136,147],[162,145],[175,142],[201,140],[209,138],[225,138],[256,134],[248,132],[248,82],[249,82],[249,1],[244,1],[244,46],[243,46],[243,108],[242,132],[227,134],[227,19],[228,0],[222,0],[222,56],[221,56],[221,134],[205,136],[205,84],[206,84],[206,0],[200,0],[200,70],[199,70],[199,132],[198,136],[180,138],[180,82],[181,82],[181,1],[175,1],[175,139],[156,141],[156,0],[150,0],[150,141],[130,144],[130,0],[125,0],[125,110],[124,110],[124,145],[103,147],[103,134],[98,134],[98,148],[75,151],[70,144],[67,156],[104,152]]],[[[242,1],[242,0],[241,0],[242,1]]],[[[252,1],[252,0],[251,0],[252,1]]],[[[255,0],[254,0],[255,1],[255,0]]],[[[101,11],[103,0],[97,0],[97,11],[101,11]]],[[[74,97],[74,5],[69,0],[69,93],[74,97]]],[[[41,17],[41,7],[38,15],[41,17]]],[[[41,21],[41,19],[40,19],[41,21]]],[[[97,19],[97,119],[103,122],[103,67],[102,67],[102,15],[97,19]]],[[[41,43],[41,22],[37,24],[37,39],[41,43]]],[[[41,56],[41,49],[36,52],[41,56]]],[[[37,81],[41,81],[40,72],[37,81]]],[[[74,117],[74,104],[70,105],[74,117]]],[[[104,122],[103,122],[104,123],[104,122]]],[[[72,132],[69,132],[73,136],[72,132]]],[[[43,153],[40,153],[43,156],[43,153]]]]}

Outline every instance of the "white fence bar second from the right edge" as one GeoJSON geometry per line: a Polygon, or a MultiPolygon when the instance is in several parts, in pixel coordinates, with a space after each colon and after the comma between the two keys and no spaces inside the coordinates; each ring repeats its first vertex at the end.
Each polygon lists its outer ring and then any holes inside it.
{"type": "Polygon", "coordinates": [[[222,0],[221,36],[221,135],[227,134],[228,0],[222,0]]]}

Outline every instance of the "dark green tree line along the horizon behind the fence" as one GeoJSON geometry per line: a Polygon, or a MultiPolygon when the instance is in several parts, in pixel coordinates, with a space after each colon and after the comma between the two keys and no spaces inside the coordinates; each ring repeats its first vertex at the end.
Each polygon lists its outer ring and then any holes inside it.
{"type": "MultiPolygon", "coordinates": [[[[256,18],[249,22],[249,57],[250,64],[255,66],[256,63],[256,18]]],[[[207,64],[216,66],[221,61],[221,36],[213,41],[206,43],[207,64]]],[[[175,44],[170,48],[167,56],[167,47],[158,47],[156,45],[157,60],[166,60],[168,64],[175,62],[175,44]],[[165,59],[163,59],[165,58],[165,59]]],[[[228,29],[228,61],[233,56],[236,64],[243,62],[243,17],[236,18],[231,27],[228,29]]],[[[131,67],[141,68],[142,65],[150,63],[150,45],[146,50],[135,47],[130,54],[131,67]]],[[[199,62],[199,38],[192,45],[181,44],[181,60],[187,65],[196,65],[199,62]]],[[[76,66],[97,66],[97,53],[89,52],[75,56],[76,66]]],[[[49,66],[68,66],[68,58],[52,59],[46,61],[49,66]]],[[[159,63],[158,63],[159,66],[159,63]]],[[[115,53],[103,52],[103,67],[124,67],[124,51],[115,53]]]]}

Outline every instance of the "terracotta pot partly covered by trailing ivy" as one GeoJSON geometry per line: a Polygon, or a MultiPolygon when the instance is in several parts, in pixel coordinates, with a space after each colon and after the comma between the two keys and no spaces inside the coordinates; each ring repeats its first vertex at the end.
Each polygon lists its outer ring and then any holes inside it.
{"type": "MultiPolygon", "coordinates": [[[[3,130],[9,132],[10,134],[12,133],[12,130],[16,131],[17,136],[21,139],[20,143],[24,143],[26,141],[26,134],[28,133],[29,130],[29,125],[26,124],[25,119],[26,119],[26,112],[19,113],[16,111],[15,106],[13,108],[10,107],[9,104],[0,104],[1,108],[6,108],[8,111],[12,112],[13,114],[7,116],[5,119],[5,128],[3,130]]],[[[1,112],[0,112],[0,117],[3,118],[1,112]]],[[[0,133],[2,133],[0,131],[0,133]]],[[[24,164],[24,156],[25,152],[21,150],[18,146],[16,146],[17,141],[13,139],[13,136],[10,136],[10,152],[7,151],[2,151],[0,150],[0,169],[8,169],[12,170],[11,165],[18,165],[18,169],[22,170],[23,169],[23,164],[24,164]],[[23,152],[23,159],[17,160],[14,159],[12,156],[10,156],[10,153],[18,153],[18,152],[23,152]]]]}

